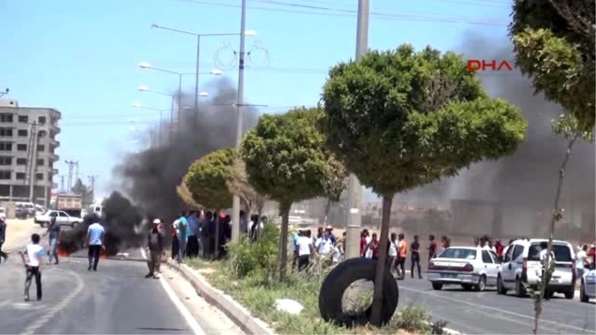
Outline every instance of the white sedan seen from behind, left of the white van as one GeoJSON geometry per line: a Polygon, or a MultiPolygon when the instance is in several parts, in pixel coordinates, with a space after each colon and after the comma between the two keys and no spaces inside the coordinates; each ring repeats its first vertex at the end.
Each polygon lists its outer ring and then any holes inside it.
{"type": "Polygon", "coordinates": [[[434,290],[443,285],[461,285],[464,290],[483,291],[496,286],[501,262],[492,250],[479,247],[449,247],[429,261],[427,278],[434,290]]]}

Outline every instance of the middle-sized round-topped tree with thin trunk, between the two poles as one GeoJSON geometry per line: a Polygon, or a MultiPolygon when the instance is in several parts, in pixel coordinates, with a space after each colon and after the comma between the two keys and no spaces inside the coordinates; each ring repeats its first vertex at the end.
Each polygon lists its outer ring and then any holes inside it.
{"type": "Polygon", "coordinates": [[[325,196],[330,181],[342,172],[318,128],[319,108],[294,108],[263,115],[242,142],[242,156],[254,189],[280,204],[280,278],[287,268],[290,207],[297,201],[325,196]]]}

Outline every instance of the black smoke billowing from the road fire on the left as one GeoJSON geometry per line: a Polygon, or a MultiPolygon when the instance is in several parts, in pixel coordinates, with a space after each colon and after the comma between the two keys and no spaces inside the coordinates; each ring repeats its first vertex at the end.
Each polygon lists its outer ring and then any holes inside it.
{"type": "MultiPolygon", "coordinates": [[[[234,104],[238,92],[226,79],[212,82],[208,91],[211,96],[200,97],[197,110],[194,109],[194,92],[181,92],[179,122],[165,122],[160,136],[162,144],[125,157],[114,168],[119,189],[134,199],[140,212],[165,221],[173,219],[185,208],[176,186],[188,167],[205,154],[234,147],[237,115],[234,104]]],[[[257,113],[249,106],[244,106],[243,110],[246,131],[256,123],[257,113]]],[[[114,212],[118,211],[114,209],[114,212]]]]}

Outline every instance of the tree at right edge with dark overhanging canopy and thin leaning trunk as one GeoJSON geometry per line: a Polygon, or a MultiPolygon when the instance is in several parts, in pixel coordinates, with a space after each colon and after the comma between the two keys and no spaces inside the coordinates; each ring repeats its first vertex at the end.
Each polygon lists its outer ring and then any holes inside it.
{"type": "MultiPolygon", "coordinates": [[[[559,200],[567,162],[578,138],[592,141],[596,125],[596,2],[516,0],[512,17],[509,33],[515,46],[516,66],[530,77],[537,93],[566,111],[552,125],[553,131],[566,139],[567,150],[558,170],[549,227],[545,264],[551,265],[554,229],[563,216],[559,200]]],[[[551,268],[542,274],[540,293],[535,296],[534,334],[538,333],[551,268]]],[[[567,295],[573,296],[573,290],[567,295]]]]}

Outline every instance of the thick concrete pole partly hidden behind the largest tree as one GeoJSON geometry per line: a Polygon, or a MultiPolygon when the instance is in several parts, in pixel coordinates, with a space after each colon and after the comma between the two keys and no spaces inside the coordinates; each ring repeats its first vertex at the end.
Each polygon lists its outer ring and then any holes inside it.
{"type": "MultiPolygon", "coordinates": [[[[356,60],[368,51],[369,0],[358,0],[358,27],[356,29],[356,60]]],[[[362,185],[356,175],[350,173],[347,184],[347,203],[349,212],[346,220],[346,259],[360,256],[360,229],[362,217],[362,185]]]]}

